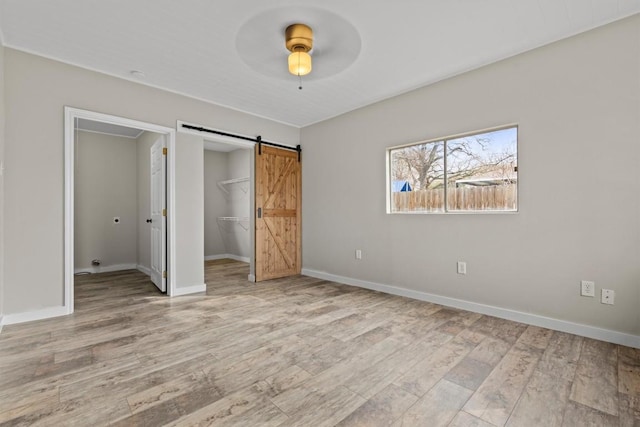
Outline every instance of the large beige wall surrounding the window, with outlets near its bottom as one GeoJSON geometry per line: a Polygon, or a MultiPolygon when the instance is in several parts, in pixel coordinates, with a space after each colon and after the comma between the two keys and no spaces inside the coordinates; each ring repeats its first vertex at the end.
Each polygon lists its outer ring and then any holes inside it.
{"type": "Polygon", "coordinates": [[[638,336],[638,135],[638,15],[309,126],[304,267],[638,336]],[[519,213],[385,213],[387,147],[510,123],[519,213]]]}

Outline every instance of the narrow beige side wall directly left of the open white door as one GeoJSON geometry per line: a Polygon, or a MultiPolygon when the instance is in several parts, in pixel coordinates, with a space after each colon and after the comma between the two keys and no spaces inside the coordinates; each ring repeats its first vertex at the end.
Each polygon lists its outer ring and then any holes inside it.
{"type": "Polygon", "coordinates": [[[143,270],[151,269],[151,146],[162,135],[143,132],[136,140],[138,186],[137,262],[143,270]]]}

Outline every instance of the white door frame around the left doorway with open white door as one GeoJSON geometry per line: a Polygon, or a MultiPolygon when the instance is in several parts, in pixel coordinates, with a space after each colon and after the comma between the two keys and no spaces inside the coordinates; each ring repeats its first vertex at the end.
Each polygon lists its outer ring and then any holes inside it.
{"type": "Polygon", "coordinates": [[[167,295],[175,293],[176,251],[175,239],[175,147],[176,131],[174,128],[127,119],[111,114],[64,107],[64,309],[67,314],[73,313],[73,278],[74,278],[74,175],[75,175],[75,122],[76,119],[87,119],[98,122],[127,126],[144,131],[164,135],[167,142],[167,295]]]}

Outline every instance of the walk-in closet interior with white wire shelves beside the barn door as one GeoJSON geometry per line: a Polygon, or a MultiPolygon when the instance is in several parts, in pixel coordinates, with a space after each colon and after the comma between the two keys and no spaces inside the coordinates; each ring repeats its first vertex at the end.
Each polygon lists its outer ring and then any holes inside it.
{"type": "Polygon", "coordinates": [[[251,150],[215,146],[204,152],[205,260],[249,262],[251,150]],[[224,150],[224,151],[221,151],[224,150]]]}

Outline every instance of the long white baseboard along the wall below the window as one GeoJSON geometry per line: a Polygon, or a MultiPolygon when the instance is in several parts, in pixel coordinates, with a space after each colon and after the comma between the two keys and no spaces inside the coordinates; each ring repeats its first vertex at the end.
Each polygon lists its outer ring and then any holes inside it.
{"type": "Polygon", "coordinates": [[[332,282],[343,283],[345,285],[357,286],[359,288],[371,289],[374,291],[384,292],[387,294],[403,296],[407,298],[427,301],[447,307],[459,308],[462,310],[472,311],[474,313],[486,314],[489,316],[499,317],[501,319],[513,320],[528,325],[539,326],[542,328],[553,329],[555,331],[567,332],[574,335],[580,335],[587,338],[593,338],[600,341],[606,341],[613,344],[624,345],[627,347],[640,348],[640,336],[625,334],[623,332],[612,331],[609,329],[597,328],[595,326],[573,323],[566,320],[554,319],[546,316],[539,316],[531,313],[510,310],[502,307],[479,304],[472,301],[465,301],[457,298],[443,297],[427,292],[414,291],[411,289],[399,288],[397,286],[384,285],[381,283],[369,282],[366,280],[353,279],[350,277],[338,276],[326,273],[324,271],[302,269],[305,276],[315,277],[317,279],[329,280],[332,282]]]}

